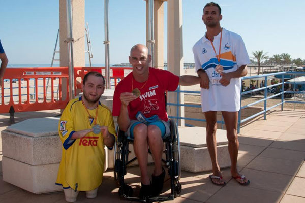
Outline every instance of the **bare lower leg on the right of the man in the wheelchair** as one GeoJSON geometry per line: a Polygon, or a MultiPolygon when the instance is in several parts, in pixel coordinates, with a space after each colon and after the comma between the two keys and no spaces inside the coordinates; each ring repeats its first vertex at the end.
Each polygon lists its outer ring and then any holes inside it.
{"type": "Polygon", "coordinates": [[[151,153],[153,154],[155,168],[154,176],[159,176],[162,173],[162,153],[163,141],[161,137],[161,130],[156,125],[149,125],[147,130],[147,140],[151,153]]]}

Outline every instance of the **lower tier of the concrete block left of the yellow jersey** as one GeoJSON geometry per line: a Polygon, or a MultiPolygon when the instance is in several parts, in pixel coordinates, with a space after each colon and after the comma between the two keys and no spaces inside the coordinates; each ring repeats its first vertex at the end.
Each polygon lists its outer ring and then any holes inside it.
{"type": "Polygon", "coordinates": [[[35,194],[63,190],[55,185],[59,163],[29,165],[3,156],[3,180],[35,194]]]}

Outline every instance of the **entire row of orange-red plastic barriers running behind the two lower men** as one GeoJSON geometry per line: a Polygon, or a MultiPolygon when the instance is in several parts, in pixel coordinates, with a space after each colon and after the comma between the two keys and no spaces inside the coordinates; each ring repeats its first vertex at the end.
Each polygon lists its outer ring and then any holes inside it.
{"type": "MultiPolygon", "coordinates": [[[[105,67],[75,67],[75,96],[76,90],[81,92],[82,78],[90,71],[105,75],[105,67]]],[[[111,86],[115,88],[131,71],[131,67],[110,67],[111,86]]],[[[8,68],[3,78],[0,113],[64,109],[69,102],[68,67],[8,68]]]]}

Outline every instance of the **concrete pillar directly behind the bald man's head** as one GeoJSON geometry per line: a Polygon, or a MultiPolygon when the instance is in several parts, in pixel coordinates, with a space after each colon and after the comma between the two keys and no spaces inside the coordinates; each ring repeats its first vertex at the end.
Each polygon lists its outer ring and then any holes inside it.
{"type": "MultiPolygon", "coordinates": [[[[164,4],[166,0],[154,0],[154,67],[164,68],[164,4]]],[[[146,0],[146,46],[148,47],[148,1],[146,0]]]]}

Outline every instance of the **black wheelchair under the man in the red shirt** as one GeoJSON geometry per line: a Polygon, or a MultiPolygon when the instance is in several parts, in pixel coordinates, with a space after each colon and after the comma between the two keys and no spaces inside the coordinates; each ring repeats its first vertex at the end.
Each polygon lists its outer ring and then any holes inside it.
{"type": "MultiPolygon", "coordinates": [[[[181,193],[181,184],[179,183],[181,175],[180,165],[180,141],[177,124],[173,120],[170,121],[171,134],[167,138],[163,139],[165,143],[165,159],[162,158],[162,162],[167,168],[167,172],[170,176],[171,193],[167,197],[150,197],[140,199],[133,197],[133,189],[130,185],[125,184],[124,176],[127,174],[127,166],[130,165],[137,158],[134,157],[129,160],[128,155],[129,143],[133,143],[133,140],[128,139],[125,132],[120,129],[117,130],[117,140],[114,144],[114,179],[119,184],[118,194],[122,199],[138,202],[162,202],[173,200],[181,193]]],[[[150,151],[148,150],[148,153],[150,151]]]]}

